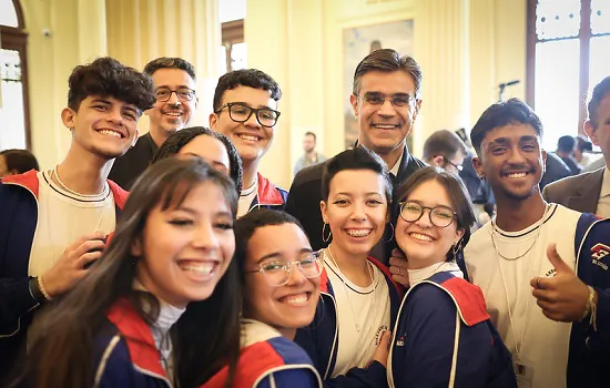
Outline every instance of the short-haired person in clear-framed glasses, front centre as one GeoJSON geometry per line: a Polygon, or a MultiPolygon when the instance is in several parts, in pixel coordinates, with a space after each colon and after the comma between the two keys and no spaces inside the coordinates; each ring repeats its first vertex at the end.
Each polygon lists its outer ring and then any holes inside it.
{"type": "MultiPolygon", "coordinates": [[[[235,259],[244,290],[242,354],[235,387],[317,388],[312,360],[293,343],[314,318],[322,262],[298,221],[287,213],[253,211],[235,226],[235,259]]],[[[221,387],[222,370],[204,388],[221,387]]]]}

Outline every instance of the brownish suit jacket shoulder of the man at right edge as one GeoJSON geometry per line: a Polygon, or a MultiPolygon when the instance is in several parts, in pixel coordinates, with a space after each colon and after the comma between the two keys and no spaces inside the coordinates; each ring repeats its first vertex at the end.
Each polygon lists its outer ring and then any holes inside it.
{"type": "Polygon", "coordinates": [[[547,202],[553,202],[581,213],[596,213],[603,169],[565,177],[549,184],[542,191],[542,197],[547,202]]]}

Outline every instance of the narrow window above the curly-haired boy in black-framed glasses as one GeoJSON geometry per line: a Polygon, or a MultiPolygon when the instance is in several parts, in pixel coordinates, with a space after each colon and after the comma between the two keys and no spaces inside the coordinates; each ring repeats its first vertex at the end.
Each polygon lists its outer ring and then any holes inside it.
{"type": "MultiPolygon", "coordinates": [[[[246,0],[224,0],[220,4],[222,23],[222,47],[218,58],[224,72],[245,69],[247,51],[244,42],[244,19],[246,0]]],[[[224,73],[223,72],[223,73],[224,73]]]]}

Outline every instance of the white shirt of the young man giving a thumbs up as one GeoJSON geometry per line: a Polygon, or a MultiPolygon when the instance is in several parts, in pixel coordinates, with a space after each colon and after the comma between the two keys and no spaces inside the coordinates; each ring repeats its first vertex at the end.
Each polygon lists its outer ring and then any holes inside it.
{"type": "Polygon", "coordinates": [[[532,388],[566,387],[571,324],[545,317],[529,283],[538,276],[555,276],[546,254],[550,243],[557,243],[559,255],[575,268],[579,217],[578,212],[551,204],[541,226],[535,224],[519,232],[505,232],[487,223],[472,235],[465,249],[470,280],[481,288],[491,320],[514,360],[533,368],[532,388]],[[492,227],[494,242],[504,256],[514,258],[531,249],[514,261],[500,257],[492,245],[492,227]]]}

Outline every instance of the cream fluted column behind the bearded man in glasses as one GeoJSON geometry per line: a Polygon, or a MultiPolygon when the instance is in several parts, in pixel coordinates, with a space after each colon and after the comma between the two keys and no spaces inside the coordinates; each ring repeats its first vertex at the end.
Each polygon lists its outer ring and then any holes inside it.
{"type": "MultiPolygon", "coordinates": [[[[221,25],[217,0],[105,0],[108,53],[142,71],[159,57],[191,62],[197,75],[197,110],[190,125],[209,126],[218,74],[221,25]]],[[[140,135],[149,131],[144,114],[140,135]]]]}

